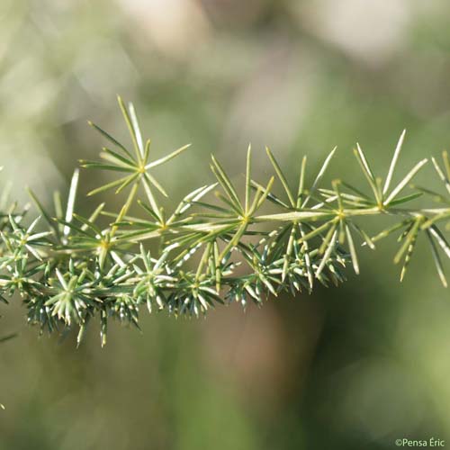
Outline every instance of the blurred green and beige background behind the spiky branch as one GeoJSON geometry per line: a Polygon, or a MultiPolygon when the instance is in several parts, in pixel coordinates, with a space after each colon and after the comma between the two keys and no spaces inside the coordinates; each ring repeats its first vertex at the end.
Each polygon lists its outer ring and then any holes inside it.
{"type": "MultiPolygon", "coordinates": [[[[103,143],[88,119],[126,139],[116,94],[155,155],[193,142],[160,172],[174,199],[212,179],[211,152],[240,179],[249,141],[264,177],[264,145],[291,179],[303,154],[317,169],[338,145],[329,179],[361,184],[356,140],[382,171],[407,128],[406,173],[450,142],[449,17],[445,0],[2,0],[3,181],[23,202],[25,185],[67,192],[103,143]]],[[[347,284],[260,309],[144,314],[143,334],[112,327],[103,349],[98,329],[76,349],[2,306],[1,334],[19,336],[0,345],[0,449],[450,446],[449,293],[426,246],[403,284],[393,252],[365,250],[347,284]]]]}

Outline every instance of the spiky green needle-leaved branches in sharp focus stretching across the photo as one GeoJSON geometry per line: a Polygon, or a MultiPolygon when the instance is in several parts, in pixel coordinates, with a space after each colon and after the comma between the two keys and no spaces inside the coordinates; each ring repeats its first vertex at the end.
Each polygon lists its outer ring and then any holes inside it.
{"type": "MultiPolygon", "coordinates": [[[[188,146],[151,161],[150,140],[144,144],[133,106],[127,108],[121,99],[119,104],[132,148],[90,123],[112,148],[103,148],[100,162],[81,161],[86,168],[119,173],[117,179],[88,193],[127,192],[119,211],[106,211],[100,203],[87,216],[76,213],[78,170],[64,207],[59,193],[54,195],[54,211],[48,211],[30,192],[40,217],[29,225],[25,224],[28,211],[9,202],[6,192],[2,196],[1,299],[7,302],[19,293],[29,323],[37,324],[41,332],[76,327],[80,343],[89,320],[96,318],[104,345],[108,321],[139,327],[143,306],[150,312],[199,316],[217,303],[245,306],[249,301],[259,304],[267,295],[309,293],[317,283],[343,282],[349,265],[358,274],[360,244],[374,249],[378,240],[392,233],[399,236],[394,262],[401,263],[401,279],[423,234],[446,286],[440,253],[450,257],[450,246],[437,223],[450,217],[450,197],[419,186],[411,186],[412,193],[403,193],[426,159],[392,187],[404,131],[384,180],[374,175],[364,151],[356,146],[368,193],[341,180],[333,181],[330,188],[321,187],[336,148],[310,188],[305,181],[306,157],[293,188],[269,148],[266,152],[275,176],[258,183],[252,175],[248,148],[243,196],[220,162],[211,157],[216,182],[188,193],[167,213],[160,204],[160,197],[167,193],[153,169],[188,146]],[[283,187],[281,196],[274,193],[275,179],[283,187]],[[215,199],[205,200],[211,192],[215,199]],[[423,193],[443,204],[434,209],[410,208],[410,202],[423,193]],[[130,215],[138,206],[142,214],[130,215]],[[357,223],[366,216],[388,215],[398,222],[372,238],[357,223]],[[150,251],[156,240],[158,250],[150,251]]],[[[446,153],[444,168],[434,158],[432,162],[450,194],[446,153]]]]}

